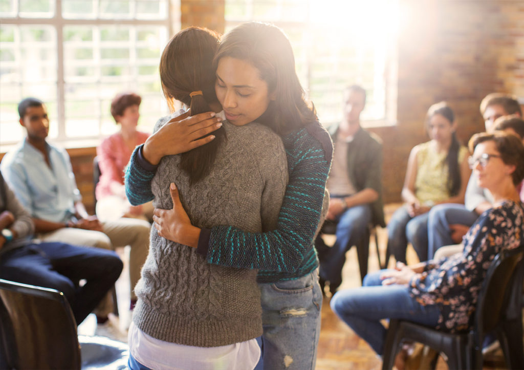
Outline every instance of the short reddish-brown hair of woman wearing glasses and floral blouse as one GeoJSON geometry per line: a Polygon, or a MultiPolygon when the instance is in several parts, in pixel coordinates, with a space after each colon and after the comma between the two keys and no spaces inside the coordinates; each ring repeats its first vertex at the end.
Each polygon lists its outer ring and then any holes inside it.
{"type": "Polygon", "coordinates": [[[500,158],[506,165],[514,165],[515,171],[511,173],[511,178],[515,185],[518,185],[524,178],[524,145],[515,135],[504,132],[492,134],[475,134],[470,139],[470,151],[473,153],[478,144],[484,142],[494,142],[500,158]]]}

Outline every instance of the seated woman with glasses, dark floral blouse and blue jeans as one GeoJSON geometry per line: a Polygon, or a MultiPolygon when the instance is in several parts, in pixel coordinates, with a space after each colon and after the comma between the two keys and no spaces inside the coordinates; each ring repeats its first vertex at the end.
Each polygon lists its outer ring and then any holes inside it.
{"type": "MultiPolygon", "coordinates": [[[[364,286],[337,292],[331,308],[382,355],[386,329],[381,319],[406,319],[457,332],[471,328],[486,271],[502,249],[524,244],[524,209],[517,184],[524,178],[524,146],[514,135],[478,134],[470,140],[478,185],[494,198],[463,240],[463,251],[417,265],[368,274],[364,286]]],[[[397,357],[402,368],[405,353],[397,357]]]]}

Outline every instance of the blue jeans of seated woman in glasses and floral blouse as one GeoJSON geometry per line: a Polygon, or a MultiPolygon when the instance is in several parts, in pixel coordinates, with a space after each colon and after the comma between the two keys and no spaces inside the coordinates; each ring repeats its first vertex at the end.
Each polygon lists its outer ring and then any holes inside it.
{"type": "Polygon", "coordinates": [[[405,319],[434,327],[440,316],[438,306],[421,306],[411,298],[408,287],[381,285],[383,271],[366,275],[362,287],[336,292],[331,299],[331,309],[378,355],[384,353],[387,333],[380,320],[405,319]]]}

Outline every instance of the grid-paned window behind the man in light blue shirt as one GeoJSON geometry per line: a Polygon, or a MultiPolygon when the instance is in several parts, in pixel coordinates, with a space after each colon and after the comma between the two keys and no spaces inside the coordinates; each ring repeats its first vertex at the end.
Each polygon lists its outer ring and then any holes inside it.
{"type": "Polygon", "coordinates": [[[126,91],[141,95],[139,129],[150,132],[168,112],[158,62],[169,1],[0,0],[0,144],[24,137],[27,96],[46,103],[54,141],[96,145],[116,132],[111,100],[126,91]]]}

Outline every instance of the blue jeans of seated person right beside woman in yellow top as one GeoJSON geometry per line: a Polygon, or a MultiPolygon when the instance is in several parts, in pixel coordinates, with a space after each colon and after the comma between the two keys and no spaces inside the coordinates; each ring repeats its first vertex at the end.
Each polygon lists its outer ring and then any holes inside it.
{"type": "Polygon", "coordinates": [[[451,224],[471,226],[478,219],[475,211],[468,211],[464,204],[435,205],[428,217],[428,259],[444,245],[455,244],[451,238],[451,224]]]}

